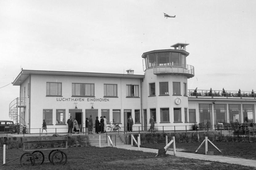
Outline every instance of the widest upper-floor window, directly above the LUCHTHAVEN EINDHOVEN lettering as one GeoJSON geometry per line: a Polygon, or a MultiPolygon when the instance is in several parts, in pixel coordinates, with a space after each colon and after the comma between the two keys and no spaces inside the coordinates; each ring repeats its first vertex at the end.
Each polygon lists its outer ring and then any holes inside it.
{"type": "Polygon", "coordinates": [[[72,83],[72,96],[94,96],[94,84],[72,83]]]}

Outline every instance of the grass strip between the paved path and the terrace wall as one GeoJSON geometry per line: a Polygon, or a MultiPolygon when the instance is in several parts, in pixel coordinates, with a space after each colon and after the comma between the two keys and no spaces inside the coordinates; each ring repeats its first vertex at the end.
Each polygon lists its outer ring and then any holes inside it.
{"type": "MultiPolygon", "coordinates": [[[[196,149],[200,146],[201,142],[191,143],[175,143],[176,151],[195,153],[196,149]]],[[[213,144],[221,150],[221,153],[208,142],[208,151],[214,151],[214,155],[229,156],[235,158],[244,158],[256,160],[256,143],[249,142],[217,142],[213,144]]],[[[143,148],[159,149],[164,148],[166,144],[142,144],[143,148]]],[[[170,148],[173,148],[171,145],[170,148]]],[[[198,154],[205,154],[205,144],[197,152],[198,154]]]]}

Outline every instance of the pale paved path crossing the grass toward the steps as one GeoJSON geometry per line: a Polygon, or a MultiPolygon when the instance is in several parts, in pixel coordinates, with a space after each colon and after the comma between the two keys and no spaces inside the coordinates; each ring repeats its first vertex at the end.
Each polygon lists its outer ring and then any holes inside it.
{"type": "MultiPolygon", "coordinates": [[[[138,150],[138,147],[133,147],[130,145],[117,145],[117,148],[128,149],[128,150],[138,150]]],[[[158,153],[158,149],[150,149],[150,148],[140,148],[140,151],[143,152],[153,152],[158,153]]],[[[173,151],[167,151],[166,154],[173,155],[173,151]]],[[[240,164],[245,166],[252,166],[256,167],[256,160],[247,160],[241,158],[231,158],[226,156],[216,156],[216,155],[202,155],[202,154],[195,154],[195,153],[186,153],[186,152],[177,152],[176,156],[184,157],[184,158],[191,158],[191,159],[199,159],[199,160],[210,160],[210,161],[218,161],[218,162],[225,162],[229,164],[240,164]]]]}

